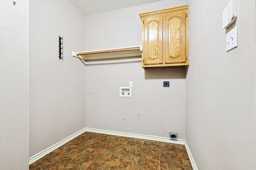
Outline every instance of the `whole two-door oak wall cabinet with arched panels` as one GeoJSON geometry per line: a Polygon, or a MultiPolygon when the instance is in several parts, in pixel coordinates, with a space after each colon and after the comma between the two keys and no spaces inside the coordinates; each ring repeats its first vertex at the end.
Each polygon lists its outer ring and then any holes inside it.
{"type": "Polygon", "coordinates": [[[188,66],[188,6],[140,14],[142,67],[188,66]]]}

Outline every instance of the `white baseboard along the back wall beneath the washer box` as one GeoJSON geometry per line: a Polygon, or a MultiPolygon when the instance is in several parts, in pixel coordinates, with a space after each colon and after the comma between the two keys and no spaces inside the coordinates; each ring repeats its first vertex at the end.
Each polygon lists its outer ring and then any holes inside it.
{"type": "Polygon", "coordinates": [[[102,129],[93,129],[93,128],[89,128],[89,127],[86,127],[86,132],[102,133],[102,134],[106,134],[106,135],[132,137],[132,138],[136,138],[136,139],[146,139],[146,140],[150,140],[150,141],[159,141],[159,142],[167,142],[167,143],[185,145],[185,140],[182,140],[182,139],[178,139],[178,141],[171,141],[167,137],[158,137],[158,136],[152,136],[152,135],[141,135],[141,134],[136,134],[136,133],[108,131],[108,130],[102,130],[102,129]]]}

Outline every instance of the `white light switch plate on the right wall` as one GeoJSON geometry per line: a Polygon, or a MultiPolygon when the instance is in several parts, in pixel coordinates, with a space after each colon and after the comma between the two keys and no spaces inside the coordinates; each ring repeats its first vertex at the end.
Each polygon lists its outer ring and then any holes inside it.
{"type": "Polygon", "coordinates": [[[226,51],[237,47],[237,26],[226,34],[226,51]]]}

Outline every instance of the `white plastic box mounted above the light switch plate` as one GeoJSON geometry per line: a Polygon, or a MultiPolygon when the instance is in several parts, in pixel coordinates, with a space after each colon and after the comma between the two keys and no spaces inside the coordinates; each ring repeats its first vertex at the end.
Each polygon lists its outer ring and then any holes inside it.
{"type": "Polygon", "coordinates": [[[222,12],[222,29],[228,28],[234,21],[236,21],[236,17],[236,0],[231,0],[222,12]]]}

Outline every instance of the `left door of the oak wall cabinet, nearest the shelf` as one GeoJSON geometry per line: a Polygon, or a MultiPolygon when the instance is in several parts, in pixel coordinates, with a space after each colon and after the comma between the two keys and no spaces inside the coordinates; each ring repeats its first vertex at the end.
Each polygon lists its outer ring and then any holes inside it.
{"type": "Polygon", "coordinates": [[[144,64],[163,63],[163,16],[151,16],[143,21],[144,44],[143,61],[144,64]]]}

